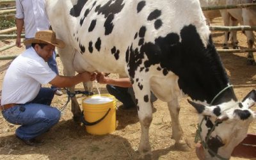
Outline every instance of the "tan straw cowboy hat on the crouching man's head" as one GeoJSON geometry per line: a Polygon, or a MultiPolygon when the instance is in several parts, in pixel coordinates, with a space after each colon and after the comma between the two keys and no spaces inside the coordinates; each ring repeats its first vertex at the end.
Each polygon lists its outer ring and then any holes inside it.
{"type": "Polygon", "coordinates": [[[24,44],[52,44],[61,49],[65,47],[65,43],[57,39],[55,32],[51,30],[36,32],[35,38],[25,40],[24,44]]]}

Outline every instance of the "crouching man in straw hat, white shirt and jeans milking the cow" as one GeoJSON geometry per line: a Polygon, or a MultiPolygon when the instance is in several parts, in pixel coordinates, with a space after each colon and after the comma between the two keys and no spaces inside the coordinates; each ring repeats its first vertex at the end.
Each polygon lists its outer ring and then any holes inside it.
{"type": "Polygon", "coordinates": [[[31,47],[13,60],[4,76],[0,109],[8,122],[21,125],[15,132],[17,138],[27,145],[38,146],[42,142],[35,138],[60,120],[60,111],[50,106],[54,91],[42,88],[41,84],[69,87],[93,81],[95,74],[83,72],[64,77],[49,68],[45,62],[51,58],[55,47],[65,47],[53,31],[38,31],[35,38],[24,44],[31,44],[31,47]]]}

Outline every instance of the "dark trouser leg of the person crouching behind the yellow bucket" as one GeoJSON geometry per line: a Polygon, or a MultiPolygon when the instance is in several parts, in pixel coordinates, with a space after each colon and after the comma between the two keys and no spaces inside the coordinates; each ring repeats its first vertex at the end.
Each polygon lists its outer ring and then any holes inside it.
{"type": "Polygon", "coordinates": [[[128,88],[109,84],[106,85],[106,88],[111,95],[115,96],[116,99],[123,103],[123,109],[134,108],[136,106],[131,95],[128,93],[128,88]]]}

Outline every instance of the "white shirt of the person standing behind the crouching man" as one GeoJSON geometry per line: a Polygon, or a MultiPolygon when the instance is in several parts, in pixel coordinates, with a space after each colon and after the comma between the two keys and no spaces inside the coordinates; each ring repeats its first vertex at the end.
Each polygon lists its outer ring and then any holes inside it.
{"type": "Polygon", "coordinates": [[[24,19],[25,37],[34,38],[37,31],[49,29],[45,0],[16,0],[17,19],[24,19]]]}

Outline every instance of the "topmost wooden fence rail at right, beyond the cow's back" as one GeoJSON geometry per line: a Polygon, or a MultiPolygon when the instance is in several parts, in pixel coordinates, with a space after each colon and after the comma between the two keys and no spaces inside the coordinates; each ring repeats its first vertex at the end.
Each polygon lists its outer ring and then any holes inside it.
{"type": "Polygon", "coordinates": [[[223,6],[204,6],[204,7],[202,7],[202,10],[203,11],[207,11],[207,10],[227,10],[227,9],[248,8],[248,7],[256,7],[256,4],[255,3],[246,3],[246,4],[223,5],[223,6]]]}

